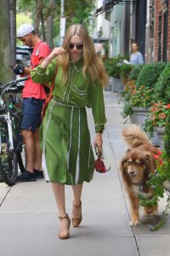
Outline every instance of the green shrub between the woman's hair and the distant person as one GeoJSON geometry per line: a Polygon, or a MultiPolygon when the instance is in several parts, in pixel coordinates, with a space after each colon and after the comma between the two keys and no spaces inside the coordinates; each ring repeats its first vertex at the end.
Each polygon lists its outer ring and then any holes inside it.
{"type": "Polygon", "coordinates": [[[111,58],[105,60],[105,71],[106,73],[113,78],[119,79],[120,78],[120,72],[121,72],[121,66],[122,66],[122,60],[125,59],[124,55],[118,55],[116,58],[111,58]]]}

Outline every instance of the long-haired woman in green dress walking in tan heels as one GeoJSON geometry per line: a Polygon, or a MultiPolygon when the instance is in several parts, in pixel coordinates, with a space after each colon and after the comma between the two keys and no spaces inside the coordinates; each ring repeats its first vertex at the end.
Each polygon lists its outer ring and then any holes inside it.
{"type": "Polygon", "coordinates": [[[52,183],[59,209],[59,238],[67,239],[71,222],[77,227],[82,221],[82,184],[90,182],[94,173],[85,106],[92,107],[94,147],[101,151],[106,122],[102,85],[108,78],[82,25],[68,28],[62,48],[55,48],[31,72],[31,78],[39,83],[51,82],[56,68],[53,99],[42,125],[42,168],[46,180],[52,183]],[[71,220],[65,211],[65,184],[73,189],[71,220]]]}

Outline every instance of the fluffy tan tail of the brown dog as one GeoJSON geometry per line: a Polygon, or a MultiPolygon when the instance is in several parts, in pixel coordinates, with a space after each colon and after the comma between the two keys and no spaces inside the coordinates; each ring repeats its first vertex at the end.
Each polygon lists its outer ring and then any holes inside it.
{"type": "Polygon", "coordinates": [[[131,148],[137,148],[144,144],[151,144],[149,138],[137,125],[129,125],[122,130],[122,137],[131,148]]]}

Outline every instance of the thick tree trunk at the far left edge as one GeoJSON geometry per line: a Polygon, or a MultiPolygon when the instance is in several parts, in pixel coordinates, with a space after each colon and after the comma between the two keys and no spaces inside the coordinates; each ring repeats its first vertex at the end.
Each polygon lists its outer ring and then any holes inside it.
{"type": "Polygon", "coordinates": [[[2,83],[13,79],[13,71],[8,65],[12,64],[10,45],[9,4],[1,0],[0,4],[0,81],[2,83]]]}

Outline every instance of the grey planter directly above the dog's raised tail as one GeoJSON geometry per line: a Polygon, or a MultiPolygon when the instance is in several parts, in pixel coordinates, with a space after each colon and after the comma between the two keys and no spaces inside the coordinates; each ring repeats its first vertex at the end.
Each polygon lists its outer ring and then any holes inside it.
{"type": "Polygon", "coordinates": [[[136,125],[142,125],[149,112],[150,108],[133,108],[133,114],[130,116],[130,120],[136,125]]]}

